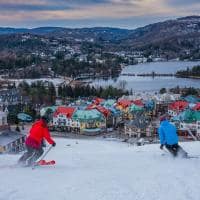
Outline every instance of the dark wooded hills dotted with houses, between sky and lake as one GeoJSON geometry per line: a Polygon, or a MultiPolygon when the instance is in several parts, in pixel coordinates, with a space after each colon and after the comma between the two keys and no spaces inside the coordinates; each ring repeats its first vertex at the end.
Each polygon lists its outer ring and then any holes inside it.
{"type": "Polygon", "coordinates": [[[6,78],[116,77],[125,65],[199,60],[199,22],[199,16],[188,16],[135,30],[1,28],[0,75],[4,72],[6,78]]]}

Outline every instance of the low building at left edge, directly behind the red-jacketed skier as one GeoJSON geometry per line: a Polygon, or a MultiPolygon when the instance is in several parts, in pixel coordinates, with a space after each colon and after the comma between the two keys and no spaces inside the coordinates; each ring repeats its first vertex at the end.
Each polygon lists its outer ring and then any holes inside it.
{"type": "Polygon", "coordinates": [[[25,135],[6,130],[0,133],[0,153],[19,153],[25,149],[25,135]]]}

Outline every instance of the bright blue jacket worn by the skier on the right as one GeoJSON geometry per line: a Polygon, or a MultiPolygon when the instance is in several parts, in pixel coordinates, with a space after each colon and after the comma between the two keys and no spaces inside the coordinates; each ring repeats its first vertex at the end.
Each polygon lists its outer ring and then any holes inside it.
{"type": "Polygon", "coordinates": [[[160,143],[161,144],[178,144],[178,135],[176,133],[176,127],[169,121],[164,120],[161,122],[158,129],[160,143]]]}

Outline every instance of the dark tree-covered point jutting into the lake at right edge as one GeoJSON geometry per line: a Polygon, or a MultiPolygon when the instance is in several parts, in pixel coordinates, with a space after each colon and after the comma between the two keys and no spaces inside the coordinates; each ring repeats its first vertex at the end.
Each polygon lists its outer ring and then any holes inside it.
{"type": "Polygon", "coordinates": [[[180,70],[176,72],[178,77],[200,77],[200,65],[194,66],[192,69],[180,70]]]}

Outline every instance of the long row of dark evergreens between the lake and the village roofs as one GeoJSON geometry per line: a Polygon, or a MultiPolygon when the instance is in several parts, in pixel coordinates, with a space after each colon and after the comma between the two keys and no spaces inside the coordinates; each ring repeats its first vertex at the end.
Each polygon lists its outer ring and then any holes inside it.
{"type": "Polygon", "coordinates": [[[79,98],[79,97],[101,97],[101,98],[119,98],[122,95],[128,95],[129,92],[123,89],[118,89],[113,86],[106,88],[95,88],[93,86],[60,86],[58,88],[58,96],[65,98],[79,98]]]}

